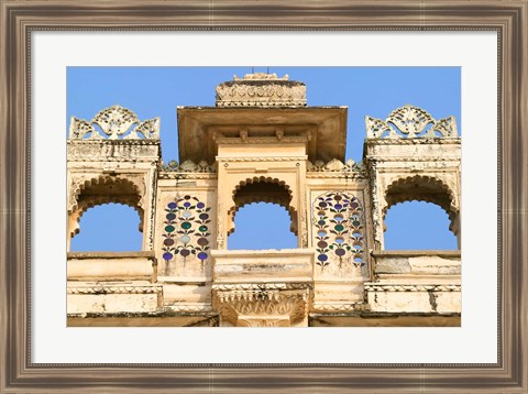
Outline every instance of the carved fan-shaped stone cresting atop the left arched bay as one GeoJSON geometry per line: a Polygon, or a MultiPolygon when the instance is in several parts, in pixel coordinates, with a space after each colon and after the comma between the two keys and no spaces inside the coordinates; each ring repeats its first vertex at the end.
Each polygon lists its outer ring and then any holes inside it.
{"type": "Polygon", "coordinates": [[[69,140],[160,140],[160,118],[141,122],[130,109],[113,106],[101,110],[90,121],[72,117],[68,138],[69,140]],[[100,131],[94,124],[97,124],[100,131]],[[131,130],[134,124],[138,125],[131,130]]]}

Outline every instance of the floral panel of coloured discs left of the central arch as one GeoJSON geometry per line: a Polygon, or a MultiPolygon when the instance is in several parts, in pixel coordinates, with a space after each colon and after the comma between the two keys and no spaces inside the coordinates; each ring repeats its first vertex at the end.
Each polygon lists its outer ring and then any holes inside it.
{"type": "Polygon", "coordinates": [[[195,256],[202,263],[207,260],[211,236],[210,210],[210,207],[193,196],[184,196],[167,204],[162,236],[163,259],[166,262],[177,254],[184,258],[184,264],[189,256],[195,256]]]}

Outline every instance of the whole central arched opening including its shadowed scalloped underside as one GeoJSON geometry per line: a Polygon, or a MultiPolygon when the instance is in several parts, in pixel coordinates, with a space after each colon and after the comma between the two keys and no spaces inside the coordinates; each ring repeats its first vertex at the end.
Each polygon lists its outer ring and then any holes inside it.
{"type": "Polygon", "coordinates": [[[233,193],[229,250],[297,248],[297,215],[292,191],[278,179],[246,179],[233,193]]]}

